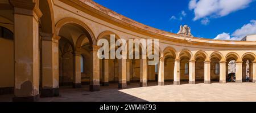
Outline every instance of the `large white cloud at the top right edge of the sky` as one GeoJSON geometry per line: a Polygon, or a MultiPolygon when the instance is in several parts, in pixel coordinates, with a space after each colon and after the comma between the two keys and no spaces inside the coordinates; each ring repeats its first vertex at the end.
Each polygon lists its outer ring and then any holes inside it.
{"type": "Polygon", "coordinates": [[[226,16],[234,11],[246,8],[253,0],[191,0],[189,9],[195,13],[193,20],[226,16]]]}

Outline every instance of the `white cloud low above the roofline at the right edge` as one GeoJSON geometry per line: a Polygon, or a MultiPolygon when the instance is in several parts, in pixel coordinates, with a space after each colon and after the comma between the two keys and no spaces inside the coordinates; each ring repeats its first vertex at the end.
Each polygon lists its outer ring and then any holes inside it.
{"type": "Polygon", "coordinates": [[[235,32],[232,33],[221,33],[218,34],[215,40],[242,40],[243,37],[256,34],[256,20],[251,20],[249,24],[243,25],[240,29],[237,29],[235,32]]]}

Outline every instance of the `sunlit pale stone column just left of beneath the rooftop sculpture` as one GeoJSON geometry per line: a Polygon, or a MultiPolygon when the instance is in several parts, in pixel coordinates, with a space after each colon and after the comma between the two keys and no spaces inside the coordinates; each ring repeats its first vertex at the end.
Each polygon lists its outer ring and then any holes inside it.
{"type": "Polygon", "coordinates": [[[175,59],[174,63],[174,85],[180,85],[180,59],[175,59]]]}

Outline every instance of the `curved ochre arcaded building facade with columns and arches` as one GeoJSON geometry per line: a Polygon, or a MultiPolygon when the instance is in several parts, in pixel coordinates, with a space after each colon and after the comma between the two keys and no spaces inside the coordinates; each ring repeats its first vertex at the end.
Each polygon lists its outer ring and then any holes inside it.
{"type": "MultiPolygon", "coordinates": [[[[0,90],[13,101],[59,95],[59,86],[90,91],[117,82],[203,81],[226,83],[228,63],[236,63],[236,82],[256,81],[256,41],[224,41],[160,31],[90,0],[0,1],[0,90]],[[148,59],[99,59],[100,39],[158,39],[159,63],[148,59]],[[157,73],[157,74],[156,74],[157,73]]],[[[190,31],[190,28],[189,28],[190,31]]]]}

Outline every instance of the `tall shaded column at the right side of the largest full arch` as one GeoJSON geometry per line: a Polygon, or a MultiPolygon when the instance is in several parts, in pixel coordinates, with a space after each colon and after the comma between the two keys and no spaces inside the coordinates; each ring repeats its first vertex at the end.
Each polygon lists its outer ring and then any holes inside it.
{"type": "Polygon", "coordinates": [[[98,58],[100,46],[93,45],[92,54],[92,75],[90,76],[90,91],[100,90],[100,59],[98,58]]]}

